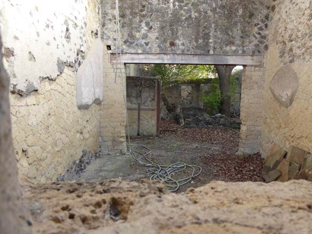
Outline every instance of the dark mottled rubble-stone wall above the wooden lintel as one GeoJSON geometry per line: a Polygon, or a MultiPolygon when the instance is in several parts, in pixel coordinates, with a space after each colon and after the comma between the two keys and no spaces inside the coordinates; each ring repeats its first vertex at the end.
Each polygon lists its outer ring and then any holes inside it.
{"type": "MultiPolygon", "coordinates": [[[[122,51],[260,55],[270,0],[119,0],[122,51]]],[[[115,50],[115,1],[102,0],[102,38],[115,50]]]]}

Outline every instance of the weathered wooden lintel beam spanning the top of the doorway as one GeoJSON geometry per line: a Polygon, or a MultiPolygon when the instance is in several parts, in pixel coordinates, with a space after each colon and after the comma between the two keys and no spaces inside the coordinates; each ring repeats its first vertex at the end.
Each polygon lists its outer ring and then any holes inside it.
{"type": "MultiPolygon", "coordinates": [[[[191,54],[122,54],[122,63],[133,64],[223,64],[262,65],[259,55],[191,55],[191,54]]],[[[111,63],[120,63],[120,55],[110,54],[111,63]]]]}

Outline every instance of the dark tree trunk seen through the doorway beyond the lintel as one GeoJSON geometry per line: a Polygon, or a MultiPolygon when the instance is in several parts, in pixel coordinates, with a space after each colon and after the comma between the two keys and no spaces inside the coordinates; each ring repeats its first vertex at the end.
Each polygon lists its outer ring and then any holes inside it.
{"type": "Polygon", "coordinates": [[[216,65],[215,67],[219,76],[219,87],[222,93],[220,113],[231,117],[230,77],[235,66],[216,65]]]}

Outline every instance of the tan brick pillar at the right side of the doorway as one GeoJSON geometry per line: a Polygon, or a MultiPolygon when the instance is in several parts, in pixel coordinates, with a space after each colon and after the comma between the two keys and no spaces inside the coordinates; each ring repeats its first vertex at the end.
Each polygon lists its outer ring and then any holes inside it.
{"type": "MultiPolygon", "coordinates": [[[[264,56],[266,60],[266,56],[264,56]]],[[[263,94],[266,63],[263,66],[246,66],[241,87],[241,132],[238,155],[259,152],[263,117],[263,94]]]]}

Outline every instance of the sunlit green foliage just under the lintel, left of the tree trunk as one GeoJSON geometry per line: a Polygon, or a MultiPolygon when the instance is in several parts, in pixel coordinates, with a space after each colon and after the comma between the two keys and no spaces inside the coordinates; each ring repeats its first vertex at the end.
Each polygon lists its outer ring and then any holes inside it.
{"type": "Polygon", "coordinates": [[[217,71],[213,65],[151,65],[154,76],[160,77],[163,86],[172,84],[198,82],[216,76],[217,71]]]}

